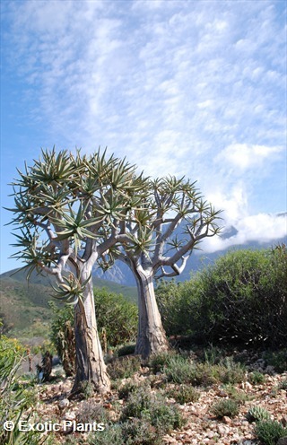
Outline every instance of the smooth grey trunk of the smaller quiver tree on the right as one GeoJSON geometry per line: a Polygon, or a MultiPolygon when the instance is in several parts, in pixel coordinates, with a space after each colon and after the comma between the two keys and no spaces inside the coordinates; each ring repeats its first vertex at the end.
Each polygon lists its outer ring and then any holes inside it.
{"type": "Polygon", "coordinates": [[[138,334],[135,353],[143,359],[153,353],[162,353],[169,349],[169,342],[161,323],[161,314],[155,300],[153,275],[143,270],[136,270],[138,290],[138,334]]]}

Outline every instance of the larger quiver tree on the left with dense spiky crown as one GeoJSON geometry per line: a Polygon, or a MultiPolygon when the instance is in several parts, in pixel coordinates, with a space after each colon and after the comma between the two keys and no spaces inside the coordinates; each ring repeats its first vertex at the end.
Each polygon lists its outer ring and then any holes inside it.
{"type": "Polygon", "coordinates": [[[144,179],[135,166],[106,153],[86,156],[43,151],[13,182],[12,223],[18,234],[13,255],[33,270],[56,276],[58,298],[74,304],[76,375],[72,394],[84,381],[109,390],[109,376],[95,318],[92,267],[116,242],[126,208],[137,205],[144,179]],[[19,234],[20,231],[20,234],[19,234]],[[108,233],[105,239],[102,233],[108,233]],[[68,272],[66,272],[68,271],[68,272]]]}

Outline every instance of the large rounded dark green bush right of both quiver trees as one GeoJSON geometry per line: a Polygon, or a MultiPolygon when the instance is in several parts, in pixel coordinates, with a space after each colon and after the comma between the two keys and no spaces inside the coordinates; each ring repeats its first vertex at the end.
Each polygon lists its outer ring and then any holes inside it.
{"type": "Polygon", "coordinates": [[[179,291],[184,332],[193,331],[205,342],[286,345],[284,246],[230,251],[180,286],[179,291]]]}

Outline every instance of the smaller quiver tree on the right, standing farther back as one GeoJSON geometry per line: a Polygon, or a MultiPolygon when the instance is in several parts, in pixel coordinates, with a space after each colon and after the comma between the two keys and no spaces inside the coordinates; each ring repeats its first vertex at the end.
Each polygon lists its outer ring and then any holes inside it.
{"type": "Polygon", "coordinates": [[[111,262],[122,260],[135,276],[139,306],[135,353],[143,358],[169,348],[154,279],[182,273],[196,245],[219,232],[219,213],[203,200],[195,183],[169,177],[150,181],[141,208],[132,209],[120,223],[119,245],[106,257],[111,262]]]}

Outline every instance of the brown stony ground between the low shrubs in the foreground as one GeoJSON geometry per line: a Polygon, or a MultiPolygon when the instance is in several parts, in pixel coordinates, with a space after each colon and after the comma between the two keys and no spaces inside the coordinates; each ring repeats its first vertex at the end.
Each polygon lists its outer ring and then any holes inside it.
{"type": "MultiPolygon", "coordinates": [[[[271,418],[287,423],[287,389],[283,382],[287,381],[287,372],[276,373],[272,368],[262,369],[260,359],[257,360],[257,369],[265,372],[265,381],[262,383],[250,383],[248,379],[233,387],[242,395],[243,402],[239,406],[239,414],[233,418],[223,416],[217,419],[212,414],[212,406],[215,402],[230,397],[228,391],[222,384],[215,384],[209,388],[197,388],[200,397],[196,402],[185,405],[178,405],[187,423],[181,431],[173,431],[163,437],[163,444],[220,444],[220,445],[253,445],[258,443],[254,433],[254,423],[249,423],[246,414],[251,406],[264,407],[271,418]],[[268,372],[266,372],[268,371],[268,372]],[[283,387],[283,388],[282,388],[283,387]]],[[[55,372],[54,372],[55,373],[55,372]]],[[[57,370],[57,374],[60,371],[57,370]]],[[[149,368],[143,368],[136,372],[135,376],[129,380],[144,381],[150,377],[149,368]]],[[[154,385],[152,391],[161,391],[161,373],[156,376],[158,385],[154,385]]],[[[118,385],[122,385],[127,380],[121,380],[118,385]]],[[[74,420],[79,422],[83,411],[87,412],[89,406],[104,407],[109,419],[116,421],[120,407],[125,401],[120,399],[117,390],[113,389],[105,397],[94,396],[87,400],[69,400],[73,380],[65,379],[64,376],[57,380],[40,384],[37,386],[39,392],[39,403],[30,411],[37,411],[43,421],[53,421],[61,423],[63,420],[74,420]]],[[[168,384],[172,387],[172,384],[168,384]]],[[[165,389],[167,386],[165,385],[165,389]]],[[[167,403],[175,404],[173,398],[167,398],[167,403]]],[[[99,411],[100,412],[100,411],[99,411]]],[[[93,419],[100,423],[100,418],[93,419]]],[[[100,434],[100,432],[97,432],[100,434]]],[[[87,438],[85,432],[58,432],[59,443],[66,443],[68,438],[74,436],[77,443],[84,443],[87,438]]],[[[281,441],[286,445],[287,440],[281,441]]],[[[112,444],[110,444],[112,445],[112,444]]]]}

